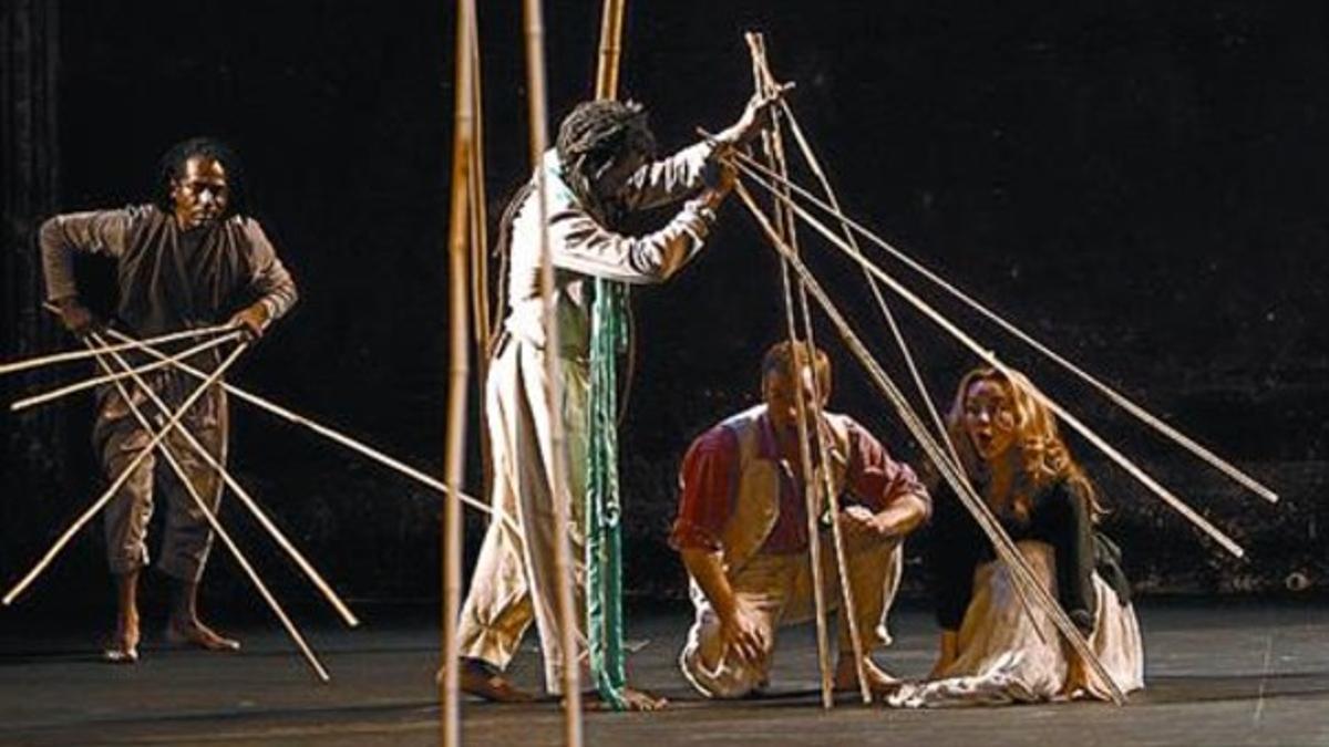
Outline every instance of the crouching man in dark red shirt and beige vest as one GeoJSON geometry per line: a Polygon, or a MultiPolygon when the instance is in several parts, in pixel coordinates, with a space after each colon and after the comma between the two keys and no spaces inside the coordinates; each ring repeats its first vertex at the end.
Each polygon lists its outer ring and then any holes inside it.
{"type": "MultiPolygon", "coordinates": [[[[679,666],[708,698],[742,698],[762,690],[777,630],[815,614],[799,445],[800,389],[809,440],[817,431],[825,437],[831,481],[841,494],[833,518],[844,538],[848,580],[840,578],[825,532],[820,558],[825,598],[835,605],[839,585],[849,585],[868,687],[882,694],[897,683],[877,667],[872,650],[889,641],[885,615],[900,584],[904,537],[926,520],[930,498],[913,471],[892,460],[867,429],[848,416],[821,411],[831,392],[825,354],[805,343],[780,343],[762,364],[762,404],[698,437],[679,476],[679,512],[670,544],[691,577],[696,607],[679,666]],[[815,409],[821,411],[819,420],[813,420],[815,409]]],[[[809,451],[819,463],[815,443],[809,451]]],[[[815,467],[819,479],[824,469],[815,467]]],[[[827,509],[823,498],[817,510],[827,509]]],[[[852,690],[857,670],[841,607],[836,687],[852,690]]]]}

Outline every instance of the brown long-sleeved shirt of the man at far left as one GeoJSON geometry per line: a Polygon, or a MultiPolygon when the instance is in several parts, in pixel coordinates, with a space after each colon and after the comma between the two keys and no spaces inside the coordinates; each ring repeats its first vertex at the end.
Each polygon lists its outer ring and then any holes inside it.
{"type": "Polygon", "coordinates": [[[144,336],[225,322],[260,302],[276,319],[295,304],[295,280],[258,221],[233,215],[182,231],[154,205],[56,215],[41,225],[47,296],[78,295],[76,253],[116,261],[116,314],[144,336]]]}

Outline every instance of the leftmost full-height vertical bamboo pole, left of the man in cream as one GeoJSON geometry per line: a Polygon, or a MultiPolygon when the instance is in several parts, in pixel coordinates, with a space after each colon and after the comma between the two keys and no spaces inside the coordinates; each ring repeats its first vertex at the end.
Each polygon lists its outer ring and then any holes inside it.
{"type": "MultiPolygon", "coordinates": [[[[461,486],[466,447],[466,374],[469,340],[466,338],[466,254],[470,243],[468,202],[470,195],[470,149],[474,133],[474,96],[472,84],[472,24],[474,0],[457,0],[456,29],[456,110],[452,133],[452,205],[448,225],[448,316],[451,338],[448,352],[448,425],[444,456],[444,484],[449,494],[461,486]]],[[[461,602],[461,508],[457,501],[443,504],[443,678],[439,681],[440,742],[447,747],[461,744],[461,690],[457,669],[457,615],[461,602]]]]}

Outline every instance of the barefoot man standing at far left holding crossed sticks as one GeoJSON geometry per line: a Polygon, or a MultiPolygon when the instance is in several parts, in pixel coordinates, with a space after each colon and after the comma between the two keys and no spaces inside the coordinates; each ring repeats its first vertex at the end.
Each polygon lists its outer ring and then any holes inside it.
{"type": "MultiPolygon", "coordinates": [[[[41,226],[43,268],[48,298],[60,308],[66,330],[84,336],[101,327],[84,304],[74,280],[76,253],[96,254],[116,263],[117,323],[136,338],[150,338],[191,327],[229,322],[250,339],[295,303],[291,275],[276,258],[256,221],[238,213],[243,189],[239,161],[225,145],[194,138],[162,158],[154,203],[121,210],[70,213],[41,226]]],[[[190,359],[195,368],[221,362],[217,348],[190,359]]],[[[130,356],[132,364],[141,359],[130,356]]],[[[171,368],[142,379],[167,407],[178,408],[198,385],[171,368]]],[[[153,405],[141,389],[130,389],[145,415],[153,405]]],[[[163,416],[165,417],[165,416],[163,416]]],[[[225,391],[213,385],[183,415],[187,428],[221,464],[226,460],[227,408],[225,391]]],[[[112,385],[97,392],[93,444],[108,480],[114,480],[152,439],[133,417],[129,404],[112,385]]],[[[163,441],[179,461],[198,496],[215,512],[221,476],[175,433],[163,441]]],[[[104,658],[113,663],[138,661],[138,580],[148,564],[146,533],[154,486],[167,498],[167,517],[158,569],[174,582],[166,638],[209,651],[237,651],[241,645],[198,617],[198,584],[211,546],[203,512],[165,460],[149,455],[108,504],[106,552],[116,578],[116,633],[104,658]]]]}

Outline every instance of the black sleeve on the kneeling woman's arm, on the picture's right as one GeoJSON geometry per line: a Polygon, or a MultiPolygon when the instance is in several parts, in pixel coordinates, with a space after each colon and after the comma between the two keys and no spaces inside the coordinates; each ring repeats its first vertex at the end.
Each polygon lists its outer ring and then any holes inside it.
{"type": "Polygon", "coordinates": [[[1075,627],[1094,630],[1098,597],[1094,593],[1094,524],[1088,500],[1061,482],[1039,497],[1034,534],[1053,546],[1057,561],[1057,597],[1075,627]]]}

